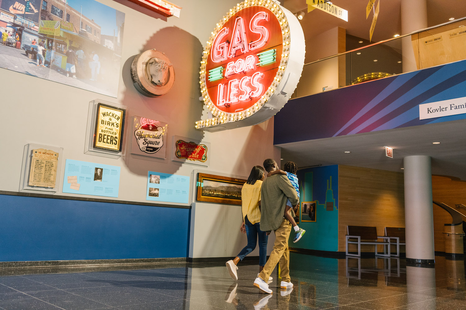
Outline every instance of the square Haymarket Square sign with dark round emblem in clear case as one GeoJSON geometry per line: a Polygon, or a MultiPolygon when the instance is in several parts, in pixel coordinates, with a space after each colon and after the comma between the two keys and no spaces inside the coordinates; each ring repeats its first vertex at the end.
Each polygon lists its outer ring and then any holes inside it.
{"type": "Polygon", "coordinates": [[[131,154],[166,158],[168,124],[140,116],[132,117],[131,154]]]}

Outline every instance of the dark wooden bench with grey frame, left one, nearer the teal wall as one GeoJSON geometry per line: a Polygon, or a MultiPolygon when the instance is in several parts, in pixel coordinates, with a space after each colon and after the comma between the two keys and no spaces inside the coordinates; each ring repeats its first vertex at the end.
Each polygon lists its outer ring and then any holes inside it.
{"type": "Polygon", "coordinates": [[[390,237],[377,236],[377,227],[370,226],[346,226],[348,234],[346,235],[346,255],[361,257],[361,244],[374,244],[375,255],[390,257],[390,237]],[[377,241],[383,239],[384,241],[377,241]],[[348,244],[357,244],[357,254],[349,254],[348,244]],[[377,245],[382,244],[384,246],[384,253],[377,253],[377,245]],[[385,251],[385,245],[387,251],[385,251]]]}

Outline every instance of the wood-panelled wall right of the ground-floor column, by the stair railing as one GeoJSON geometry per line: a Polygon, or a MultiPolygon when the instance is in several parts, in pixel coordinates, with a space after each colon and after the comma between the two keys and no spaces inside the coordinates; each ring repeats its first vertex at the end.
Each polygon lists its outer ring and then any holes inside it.
{"type": "MultiPolygon", "coordinates": [[[[432,176],[432,199],[455,207],[455,204],[466,204],[466,182],[443,176],[432,176]]],[[[460,208],[459,211],[466,211],[460,208]]],[[[435,251],[445,251],[444,224],[451,224],[450,214],[434,205],[434,246],[435,251]]]]}

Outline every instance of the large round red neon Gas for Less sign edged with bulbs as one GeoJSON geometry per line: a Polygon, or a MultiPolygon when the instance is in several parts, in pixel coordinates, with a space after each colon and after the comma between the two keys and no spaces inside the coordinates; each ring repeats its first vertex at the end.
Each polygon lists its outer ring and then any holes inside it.
{"type": "Polygon", "coordinates": [[[299,21],[279,2],[245,0],[230,9],[204,50],[199,84],[212,118],[196,128],[217,131],[272,117],[296,88],[304,48],[299,21]]]}

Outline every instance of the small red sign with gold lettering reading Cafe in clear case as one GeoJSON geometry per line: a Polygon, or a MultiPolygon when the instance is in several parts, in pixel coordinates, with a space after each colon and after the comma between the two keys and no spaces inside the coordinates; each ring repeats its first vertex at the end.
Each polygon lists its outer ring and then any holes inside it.
{"type": "Polygon", "coordinates": [[[207,167],[210,162],[210,143],[173,136],[172,160],[207,167]]]}

